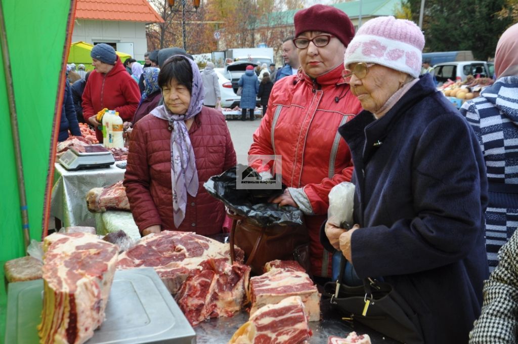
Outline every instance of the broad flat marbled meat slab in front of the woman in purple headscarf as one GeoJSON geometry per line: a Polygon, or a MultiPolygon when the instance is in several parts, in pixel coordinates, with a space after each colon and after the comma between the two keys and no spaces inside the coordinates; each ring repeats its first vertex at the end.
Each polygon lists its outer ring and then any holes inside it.
{"type": "MultiPolygon", "coordinates": [[[[236,261],[243,262],[244,252],[236,247],[236,261]]],[[[153,267],[171,294],[176,294],[182,283],[202,269],[203,261],[224,259],[230,261],[230,246],[193,232],[163,231],[150,234],[119,256],[118,269],[153,267]]]]}

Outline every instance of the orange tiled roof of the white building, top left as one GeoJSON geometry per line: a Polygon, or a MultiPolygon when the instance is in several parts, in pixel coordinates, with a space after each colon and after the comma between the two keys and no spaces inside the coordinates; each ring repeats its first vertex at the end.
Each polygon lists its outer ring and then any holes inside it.
{"type": "Polygon", "coordinates": [[[147,0],[77,0],[76,18],[163,23],[147,0]]]}

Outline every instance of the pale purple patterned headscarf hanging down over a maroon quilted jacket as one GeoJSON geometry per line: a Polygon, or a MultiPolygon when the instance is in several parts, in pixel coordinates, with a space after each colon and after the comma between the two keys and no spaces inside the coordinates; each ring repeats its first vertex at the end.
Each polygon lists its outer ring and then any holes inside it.
{"type": "MultiPolygon", "coordinates": [[[[171,113],[167,106],[161,105],[154,108],[151,114],[169,122],[171,132],[171,185],[172,185],[172,210],[175,226],[178,228],[185,218],[187,206],[187,193],[196,197],[198,193],[198,170],[194,157],[191,139],[185,125],[185,120],[193,118],[202,111],[204,91],[202,75],[194,61],[180,56],[191,64],[193,71],[193,88],[191,91],[191,103],[185,114],[171,113]]],[[[171,56],[174,57],[174,56],[171,56]]],[[[169,58],[170,59],[170,58],[169,58]]],[[[168,59],[168,60],[169,60],[168,59]]],[[[164,63],[166,65],[168,61],[164,63]]]]}

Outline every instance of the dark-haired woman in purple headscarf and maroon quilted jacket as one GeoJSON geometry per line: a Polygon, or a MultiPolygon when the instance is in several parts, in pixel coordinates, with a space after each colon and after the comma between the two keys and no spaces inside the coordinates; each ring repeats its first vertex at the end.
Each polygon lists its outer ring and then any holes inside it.
{"type": "Polygon", "coordinates": [[[203,183],[236,165],[225,119],[203,106],[202,76],[189,58],[171,56],[159,86],[164,105],[138,121],[130,141],[124,186],[133,218],[142,235],[221,233],[223,203],[203,183]]]}

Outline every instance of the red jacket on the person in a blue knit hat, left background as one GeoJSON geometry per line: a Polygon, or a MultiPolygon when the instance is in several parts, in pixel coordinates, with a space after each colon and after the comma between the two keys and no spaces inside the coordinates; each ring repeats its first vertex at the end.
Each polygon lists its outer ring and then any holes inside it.
{"type": "MultiPolygon", "coordinates": [[[[86,122],[104,108],[119,112],[123,121],[133,119],[140,102],[140,90],[117,56],[117,62],[106,74],[96,70],[90,74],[83,92],[83,117],[86,122]]],[[[95,128],[99,142],[103,142],[103,134],[95,128]]]]}

